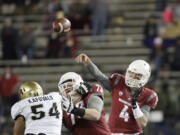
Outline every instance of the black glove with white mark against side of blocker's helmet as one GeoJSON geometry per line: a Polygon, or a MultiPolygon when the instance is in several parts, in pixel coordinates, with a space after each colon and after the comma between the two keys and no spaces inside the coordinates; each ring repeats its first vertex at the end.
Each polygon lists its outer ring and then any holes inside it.
{"type": "Polygon", "coordinates": [[[84,98],[89,92],[91,92],[91,85],[87,82],[81,83],[79,89],[77,89],[77,93],[84,98]]]}

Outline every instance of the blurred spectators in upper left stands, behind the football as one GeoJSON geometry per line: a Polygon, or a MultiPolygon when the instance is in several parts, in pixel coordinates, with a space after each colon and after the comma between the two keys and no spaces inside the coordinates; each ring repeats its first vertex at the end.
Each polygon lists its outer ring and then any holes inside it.
{"type": "MultiPolygon", "coordinates": [[[[35,55],[36,40],[39,33],[43,33],[47,38],[46,52],[43,58],[64,58],[74,57],[79,44],[78,34],[74,31],[83,31],[92,35],[103,35],[109,17],[108,4],[106,0],[72,0],[67,4],[61,0],[49,0],[47,8],[43,8],[45,2],[23,0],[23,1],[2,1],[2,15],[4,25],[1,29],[2,59],[33,59],[35,55]],[[10,7],[13,5],[13,11],[10,7]],[[22,9],[20,7],[23,7],[22,9]],[[43,9],[42,9],[43,8],[43,9]],[[29,10],[32,11],[29,11],[29,10]],[[31,12],[31,13],[30,13],[31,12]],[[33,13],[46,15],[41,21],[32,28],[24,20],[22,27],[14,24],[16,15],[32,15],[33,13]],[[73,32],[58,34],[52,32],[52,22],[57,18],[68,18],[71,21],[73,32]],[[41,32],[39,32],[41,31],[41,32]]],[[[38,18],[36,18],[38,19],[38,18]]]]}

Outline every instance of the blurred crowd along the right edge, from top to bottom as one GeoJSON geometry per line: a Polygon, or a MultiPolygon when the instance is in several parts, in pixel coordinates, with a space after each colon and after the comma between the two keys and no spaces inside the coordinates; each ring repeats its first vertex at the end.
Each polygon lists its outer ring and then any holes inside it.
{"type": "Polygon", "coordinates": [[[156,110],[164,116],[154,124],[154,135],[176,135],[180,121],[180,3],[161,1],[158,4],[157,12],[146,19],[143,28],[143,43],[150,48],[149,62],[153,67],[149,85],[158,93],[156,110]]]}

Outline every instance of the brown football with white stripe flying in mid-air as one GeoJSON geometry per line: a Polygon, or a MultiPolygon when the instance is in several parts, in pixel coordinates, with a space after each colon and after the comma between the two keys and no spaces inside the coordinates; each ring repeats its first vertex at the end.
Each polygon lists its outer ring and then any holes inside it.
{"type": "Polygon", "coordinates": [[[68,32],[71,30],[71,22],[67,18],[56,19],[53,22],[53,31],[57,33],[68,32]]]}

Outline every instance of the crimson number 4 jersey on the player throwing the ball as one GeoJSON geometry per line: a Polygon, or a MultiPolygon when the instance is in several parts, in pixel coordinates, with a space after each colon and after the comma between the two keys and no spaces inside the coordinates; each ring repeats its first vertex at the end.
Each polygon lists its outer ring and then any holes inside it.
{"type": "MultiPolygon", "coordinates": [[[[113,74],[110,77],[113,86],[111,97],[111,111],[109,116],[109,127],[112,133],[133,134],[142,132],[138,126],[131,106],[131,93],[125,84],[125,77],[120,74],[113,74]]],[[[157,104],[157,94],[148,88],[143,88],[137,103],[141,108],[148,105],[154,108],[157,104]]]]}

